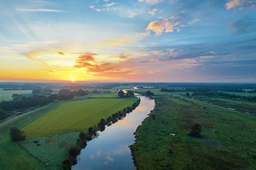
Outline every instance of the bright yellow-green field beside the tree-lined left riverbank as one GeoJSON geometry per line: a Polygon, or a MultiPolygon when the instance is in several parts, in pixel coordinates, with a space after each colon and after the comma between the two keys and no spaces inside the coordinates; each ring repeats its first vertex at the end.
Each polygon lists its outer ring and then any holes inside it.
{"type": "Polygon", "coordinates": [[[27,137],[40,137],[85,130],[96,125],[101,118],[132,106],[137,98],[91,98],[63,102],[60,106],[26,125],[27,137]]]}

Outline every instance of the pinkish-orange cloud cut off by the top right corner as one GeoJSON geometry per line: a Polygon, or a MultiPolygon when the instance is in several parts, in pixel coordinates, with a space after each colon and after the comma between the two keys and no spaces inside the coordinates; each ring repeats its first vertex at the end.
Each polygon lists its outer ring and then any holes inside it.
{"type": "Polygon", "coordinates": [[[254,0],[230,0],[225,4],[226,8],[229,10],[231,8],[240,7],[240,8],[255,8],[256,1],[254,0]]]}

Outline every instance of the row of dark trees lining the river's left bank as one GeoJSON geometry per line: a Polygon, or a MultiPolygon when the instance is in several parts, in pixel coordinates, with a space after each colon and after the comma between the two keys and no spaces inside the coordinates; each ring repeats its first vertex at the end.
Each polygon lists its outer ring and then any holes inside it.
{"type": "Polygon", "coordinates": [[[122,111],[119,111],[117,113],[114,113],[106,120],[102,118],[100,120],[100,123],[98,123],[94,127],[88,128],[87,132],[80,132],[76,145],[70,148],[68,157],[63,161],[61,169],[70,170],[71,166],[77,164],[76,157],[78,157],[78,155],[80,154],[81,149],[84,149],[87,146],[87,142],[92,140],[93,137],[97,136],[97,131],[103,131],[105,130],[106,125],[111,125],[112,123],[117,122],[117,120],[124,118],[127,113],[132,112],[134,108],[139,106],[139,102],[140,99],[132,106],[124,108],[122,111]]]}

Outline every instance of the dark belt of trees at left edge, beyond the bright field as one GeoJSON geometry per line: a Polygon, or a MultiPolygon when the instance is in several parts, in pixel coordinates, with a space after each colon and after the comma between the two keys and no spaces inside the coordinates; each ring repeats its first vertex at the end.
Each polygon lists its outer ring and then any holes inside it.
{"type": "Polygon", "coordinates": [[[61,89],[58,94],[50,94],[48,96],[37,95],[33,96],[26,95],[14,95],[12,101],[1,101],[0,102],[0,120],[8,118],[12,113],[11,111],[29,107],[44,106],[55,100],[70,99],[74,96],[85,96],[90,94],[90,91],[84,91],[82,89],[78,91],[70,91],[69,89],[61,89]]]}

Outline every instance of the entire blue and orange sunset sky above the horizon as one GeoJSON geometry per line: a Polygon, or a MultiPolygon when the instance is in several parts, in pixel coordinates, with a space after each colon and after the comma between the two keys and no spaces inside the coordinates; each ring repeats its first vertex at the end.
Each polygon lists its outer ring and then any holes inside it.
{"type": "Polygon", "coordinates": [[[256,82],[256,0],[0,0],[0,81],[256,82]]]}

